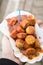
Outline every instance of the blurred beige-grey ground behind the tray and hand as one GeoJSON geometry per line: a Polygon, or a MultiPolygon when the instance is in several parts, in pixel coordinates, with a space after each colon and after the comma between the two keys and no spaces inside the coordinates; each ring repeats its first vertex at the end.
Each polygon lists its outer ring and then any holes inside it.
{"type": "MultiPolygon", "coordinates": [[[[18,8],[32,13],[37,19],[43,21],[43,0],[0,0],[0,22],[9,13],[18,10],[18,8]]],[[[3,34],[0,32],[0,57],[2,52],[2,37],[3,34]]]]}

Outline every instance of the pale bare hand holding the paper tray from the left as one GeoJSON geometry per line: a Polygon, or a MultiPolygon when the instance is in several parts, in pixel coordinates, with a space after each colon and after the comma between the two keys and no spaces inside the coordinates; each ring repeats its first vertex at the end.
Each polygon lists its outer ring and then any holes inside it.
{"type": "Polygon", "coordinates": [[[11,48],[10,42],[7,37],[3,37],[2,40],[2,58],[7,58],[13,60],[14,62],[22,65],[23,63],[14,56],[13,50],[11,48]]]}

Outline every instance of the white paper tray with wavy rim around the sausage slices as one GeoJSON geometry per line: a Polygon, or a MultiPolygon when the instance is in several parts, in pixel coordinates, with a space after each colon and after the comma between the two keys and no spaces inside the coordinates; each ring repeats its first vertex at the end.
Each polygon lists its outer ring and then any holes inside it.
{"type": "MultiPolygon", "coordinates": [[[[21,11],[21,15],[30,15],[30,14],[31,13],[29,13],[29,12],[21,11]]],[[[12,18],[12,17],[16,17],[16,16],[18,16],[18,11],[15,11],[15,12],[9,14],[6,18],[12,18]]],[[[40,53],[40,55],[38,57],[35,57],[32,60],[28,59],[26,56],[24,56],[22,53],[20,53],[20,50],[15,45],[15,40],[10,37],[10,33],[8,31],[6,18],[0,24],[0,31],[9,38],[11,47],[12,47],[13,52],[14,52],[14,55],[16,57],[18,57],[22,62],[28,62],[30,64],[33,64],[35,62],[40,61],[42,59],[42,56],[43,56],[42,53],[40,53]]]]}

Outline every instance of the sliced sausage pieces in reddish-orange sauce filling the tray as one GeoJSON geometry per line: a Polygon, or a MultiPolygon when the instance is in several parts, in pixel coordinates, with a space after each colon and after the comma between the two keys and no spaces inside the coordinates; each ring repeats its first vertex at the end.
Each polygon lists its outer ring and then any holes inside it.
{"type": "Polygon", "coordinates": [[[21,15],[21,19],[20,22],[18,16],[6,19],[10,36],[15,40],[20,52],[33,59],[41,53],[40,43],[35,34],[36,19],[33,15],[21,15]]]}

